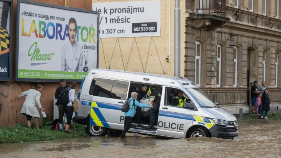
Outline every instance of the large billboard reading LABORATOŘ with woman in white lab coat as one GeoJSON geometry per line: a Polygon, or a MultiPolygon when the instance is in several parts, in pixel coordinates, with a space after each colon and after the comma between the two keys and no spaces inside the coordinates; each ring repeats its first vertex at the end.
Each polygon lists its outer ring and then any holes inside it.
{"type": "Polygon", "coordinates": [[[98,67],[99,13],[18,1],[16,80],[81,81],[98,67]]]}

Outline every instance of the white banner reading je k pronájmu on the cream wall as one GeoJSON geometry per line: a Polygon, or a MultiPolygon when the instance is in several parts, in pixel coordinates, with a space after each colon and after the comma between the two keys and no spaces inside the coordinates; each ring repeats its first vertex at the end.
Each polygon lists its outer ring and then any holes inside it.
{"type": "Polygon", "coordinates": [[[96,3],[100,12],[100,38],[160,36],[161,1],[96,3]]]}

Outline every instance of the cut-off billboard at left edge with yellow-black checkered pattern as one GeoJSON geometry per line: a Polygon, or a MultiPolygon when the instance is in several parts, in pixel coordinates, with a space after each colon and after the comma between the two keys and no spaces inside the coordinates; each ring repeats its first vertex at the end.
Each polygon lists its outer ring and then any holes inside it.
{"type": "Polygon", "coordinates": [[[0,81],[10,81],[12,75],[12,13],[13,1],[0,0],[0,81]]]}

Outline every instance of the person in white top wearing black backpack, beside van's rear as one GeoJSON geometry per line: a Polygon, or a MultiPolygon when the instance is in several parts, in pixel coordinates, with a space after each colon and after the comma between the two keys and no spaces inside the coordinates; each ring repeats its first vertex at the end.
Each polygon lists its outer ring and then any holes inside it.
{"type": "Polygon", "coordinates": [[[69,127],[71,125],[71,119],[73,115],[73,102],[75,101],[75,87],[77,86],[76,82],[72,82],[69,88],[62,90],[59,94],[60,102],[63,105],[63,111],[66,115],[66,125],[65,133],[68,133],[69,127]],[[67,97],[68,96],[68,97],[67,97]],[[65,101],[66,100],[66,101],[65,101]]]}

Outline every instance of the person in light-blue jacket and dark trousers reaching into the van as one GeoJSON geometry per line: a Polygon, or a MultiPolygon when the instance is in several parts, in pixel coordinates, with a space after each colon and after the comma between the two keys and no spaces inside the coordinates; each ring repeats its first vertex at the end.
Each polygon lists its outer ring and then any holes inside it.
{"type": "Polygon", "coordinates": [[[138,98],[138,93],[132,92],[131,98],[129,99],[130,109],[129,111],[125,112],[124,130],[122,131],[119,139],[122,139],[125,136],[125,134],[129,131],[132,124],[133,117],[135,116],[136,113],[137,106],[141,108],[149,108],[149,107],[152,108],[152,105],[149,106],[149,105],[141,104],[140,102],[138,102],[137,98],[138,98]]]}

